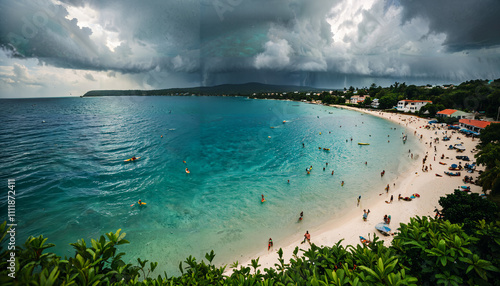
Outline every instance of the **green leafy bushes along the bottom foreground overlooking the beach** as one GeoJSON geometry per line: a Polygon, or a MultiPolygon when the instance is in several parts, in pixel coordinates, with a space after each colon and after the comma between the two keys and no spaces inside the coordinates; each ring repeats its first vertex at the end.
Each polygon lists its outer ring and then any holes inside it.
{"type": "MultiPolygon", "coordinates": [[[[61,259],[43,253],[52,244],[43,236],[29,237],[16,247],[15,279],[7,274],[10,251],[0,249],[1,285],[500,285],[494,280],[499,266],[500,222],[476,226],[474,235],[462,231],[461,225],[427,217],[412,218],[401,224],[393,245],[386,247],[374,238],[368,246],[312,245],[298,247],[287,263],[282,250],[273,268],[257,269],[259,259],[240,266],[230,276],[224,267],[212,264],[213,251],[204,261],[189,257],[179,264],[181,276],[149,277],[157,264],[138,259],[138,266],[126,264],[117,246],[128,243],[125,234],[107,233],[87,246],[80,240],[71,244],[75,253],[61,259]],[[107,239],[106,239],[107,238],[107,239]]],[[[0,225],[0,239],[7,233],[0,225]]],[[[1,241],[0,241],[1,242],[1,241]]]]}

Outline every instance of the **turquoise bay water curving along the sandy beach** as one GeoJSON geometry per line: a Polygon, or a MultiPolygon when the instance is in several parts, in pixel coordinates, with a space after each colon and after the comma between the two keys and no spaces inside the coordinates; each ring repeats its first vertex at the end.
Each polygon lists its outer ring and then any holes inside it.
{"type": "Polygon", "coordinates": [[[214,262],[229,264],[265,250],[269,237],[276,246],[300,239],[305,229],[352,209],[358,195],[383,190],[409,166],[408,149],[417,148],[412,136],[404,145],[404,129],[389,121],[290,101],[103,97],[1,104],[1,181],[16,179],[18,244],[44,234],[64,256],[77,239],[121,228],[131,242],[121,248],[126,260],[158,261],[169,275],[189,255],[202,259],[214,249],[214,262]],[[141,159],[123,162],[134,155],[141,159]],[[138,199],[147,205],[131,207],[138,199]]]}

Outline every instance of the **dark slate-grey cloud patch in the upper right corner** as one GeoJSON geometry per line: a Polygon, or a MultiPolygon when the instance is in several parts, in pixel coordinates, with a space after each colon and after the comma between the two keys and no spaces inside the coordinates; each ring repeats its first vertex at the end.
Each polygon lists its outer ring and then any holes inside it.
{"type": "Polygon", "coordinates": [[[446,34],[444,45],[451,52],[500,45],[498,0],[401,1],[403,22],[423,17],[431,33],[446,34]]]}

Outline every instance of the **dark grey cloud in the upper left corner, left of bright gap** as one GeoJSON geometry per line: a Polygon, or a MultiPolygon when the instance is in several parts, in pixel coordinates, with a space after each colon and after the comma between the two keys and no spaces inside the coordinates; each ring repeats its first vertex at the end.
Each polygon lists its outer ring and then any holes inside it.
{"type": "Polygon", "coordinates": [[[37,58],[62,68],[143,71],[144,62],[118,62],[103,43],[90,39],[92,30],[66,19],[66,9],[48,1],[3,1],[0,46],[20,58],[37,58]]]}

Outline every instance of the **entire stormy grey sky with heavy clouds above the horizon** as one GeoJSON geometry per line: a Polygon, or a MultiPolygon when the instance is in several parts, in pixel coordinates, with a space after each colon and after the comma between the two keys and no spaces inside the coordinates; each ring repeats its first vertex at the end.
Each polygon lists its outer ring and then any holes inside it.
{"type": "Polygon", "coordinates": [[[0,97],[500,78],[498,0],[0,0],[0,97]]]}

